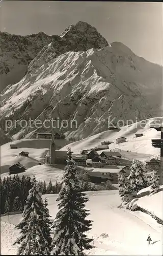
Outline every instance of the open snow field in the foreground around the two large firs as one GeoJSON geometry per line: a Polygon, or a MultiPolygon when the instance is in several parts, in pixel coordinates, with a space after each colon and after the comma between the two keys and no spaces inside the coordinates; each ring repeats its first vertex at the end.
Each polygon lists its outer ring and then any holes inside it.
{"type": "MultiPolygon", "coordinates": [[[[120,197],[116,190],[89,191],[88,195],[90,201],[86,207],[90,209],[89,219],[93,220],[88,236],[93,237],[95,245],[95,248],[86,252],[88,255],[162,255],[162,233],[155,220],[145,215],[138,217],[131,211],[117,208],[120,197]],[[150,246],[146,241],[149,234],[152,239],[150,246]]],[[[48,199],[50,215],[54,219],[58,211],[58,195],[43,195],[43,198],[45,197],[48,199]]],[[[16,225],[20,218],[21,215],[10,216],[10,222],[16,225]]],[[[8,222],[8,216],[1,217],[1,220],[8,222]]],[[[2,227],[2,252],[6,252],[6,247],[11,248],[11,243],[6,236],[5,224],[2,227]]],[[[17,232],[11,224],[8,227],[12,238],[16,239],[17,232]]],[[[16,254],[16,248],[12,252],[16,254]]]]}

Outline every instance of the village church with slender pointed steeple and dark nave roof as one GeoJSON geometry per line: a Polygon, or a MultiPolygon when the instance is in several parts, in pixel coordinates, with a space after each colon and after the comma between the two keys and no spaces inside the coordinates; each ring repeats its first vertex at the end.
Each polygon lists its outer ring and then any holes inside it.
{"type": "Polygon", "coordinates": [[[52,132],[49,150],[44,159],[45,165],[66,164],[66,160],[67,151],[56,150],[55,136],[54,132],[52,132]]]}

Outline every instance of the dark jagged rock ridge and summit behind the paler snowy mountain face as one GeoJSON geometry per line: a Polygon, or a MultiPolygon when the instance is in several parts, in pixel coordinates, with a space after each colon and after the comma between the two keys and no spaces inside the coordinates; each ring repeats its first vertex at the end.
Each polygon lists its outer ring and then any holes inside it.
{"type": "Polygon", "coordinates": [[[1,90],[8,84],[20,81],[26,74],[28,65],[40,51],[39,57],[29,66],[28,72],[34,67],[40,67],[45,60],[48,62],[68,51],[100,49],[108,45],[94,27],[84,22],[69,26],[61,36],[48,36],[43,32],[27,36],[0,33],[1,90]]]}

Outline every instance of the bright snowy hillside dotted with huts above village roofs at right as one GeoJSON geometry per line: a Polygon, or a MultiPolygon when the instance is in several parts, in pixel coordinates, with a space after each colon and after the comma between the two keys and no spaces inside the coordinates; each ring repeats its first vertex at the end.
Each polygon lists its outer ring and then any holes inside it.
{"type": "MultiPolygon", "coordinates": [[[[73,142],[69,144],[71,150],[73,152],[79,152],[81,150],[90,149],[92,147],[96,147],[102,141],[113,141],[114,143],[109,145],[110,151],[115,148],[119,148],[122,150],[121,154],[123,157],[128,157],[129,159],[149,159],[151,157],[158,156],[160,154],[159,148],[152,147],[151,139],[159,139],[160,132],[157,132],[155,129],[150,128],[150,125],[153,123],[162,123],[163,118],[150,118],[144,120],[143,122],[133,123],[132,125],[127,125],[121,128],[119,132],[115,130],[105,131],[86,139],[73,142]],[[135,138],[135,133],[143,133],[142,137],[135,138]],[[116,144],[116,139],[119,137],[125,137],[126,142],[116,144]],[[123,151],[131,151],[131,152],[123,152],[123,151]],[[135,154],[137,152],[139,154],[135,154]]],[[[61,150],[65,150],[63,147],[61,150]]],[[[102,151],[98,151],[100,154],[102,151]]]]}

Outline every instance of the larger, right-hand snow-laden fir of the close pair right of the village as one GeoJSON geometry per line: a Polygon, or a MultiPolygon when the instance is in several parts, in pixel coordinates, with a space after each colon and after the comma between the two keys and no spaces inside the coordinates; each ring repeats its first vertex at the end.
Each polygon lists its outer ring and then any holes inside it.
{"type": "Polygon", "coordinates": [[[132,189],[136,192],[148,186],[148,179],[141,161],[137,159],[133,160],[128,179],[130,180],[132,189]]]}

